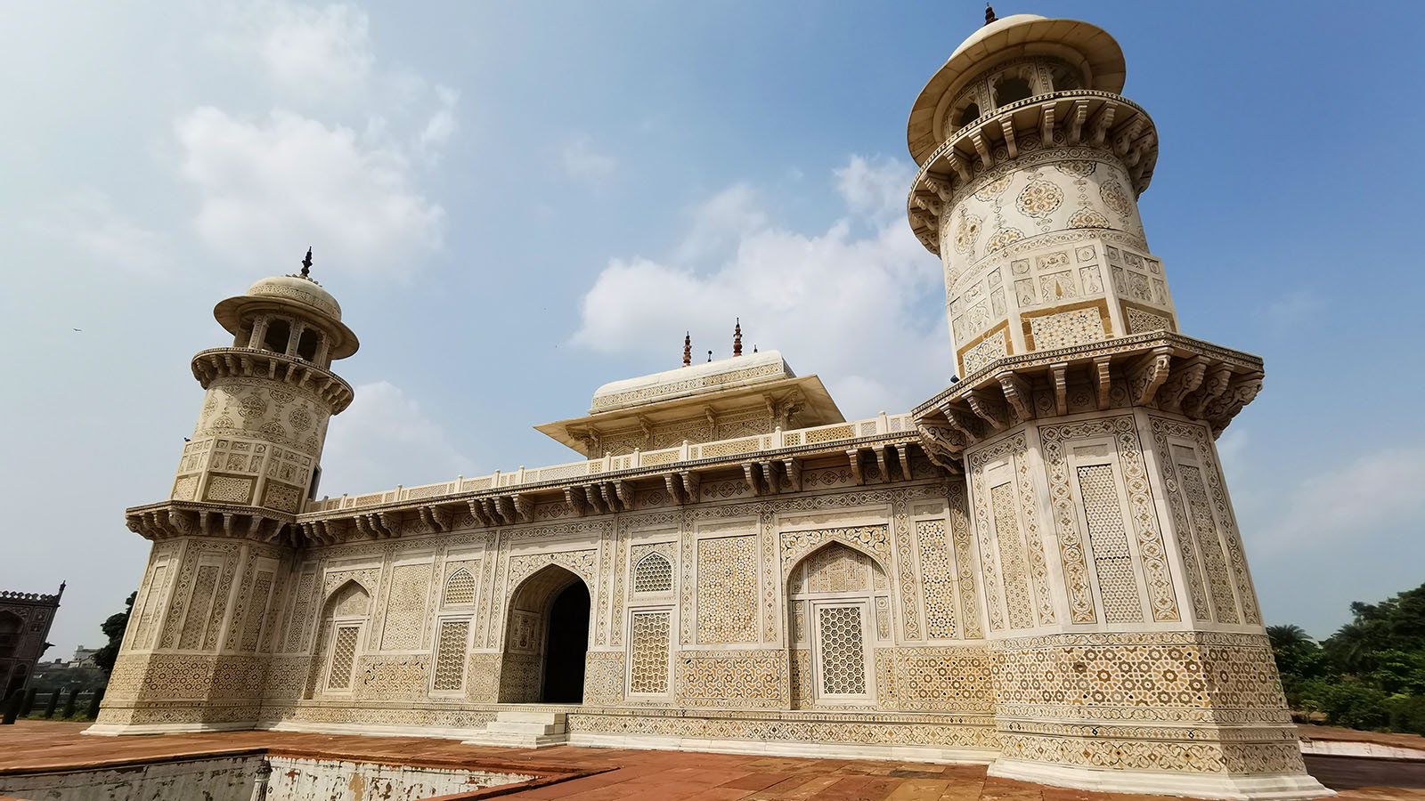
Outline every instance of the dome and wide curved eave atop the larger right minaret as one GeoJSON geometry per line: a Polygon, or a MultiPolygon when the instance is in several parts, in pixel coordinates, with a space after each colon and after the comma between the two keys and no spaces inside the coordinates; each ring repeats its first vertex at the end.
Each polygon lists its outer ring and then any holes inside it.
{"type": "Polygon", "coordinates": [[[1079,70],[1083,88],[1123,91],[1123,48],[1099,26],[1039,14],[995,20],[962,41],[916,97],[906,125],[906,143],[915,162],[925,164],[945,141],[949,105],[969,78],[996,63],[1035,56],[1054,57],[1079,70]]]}

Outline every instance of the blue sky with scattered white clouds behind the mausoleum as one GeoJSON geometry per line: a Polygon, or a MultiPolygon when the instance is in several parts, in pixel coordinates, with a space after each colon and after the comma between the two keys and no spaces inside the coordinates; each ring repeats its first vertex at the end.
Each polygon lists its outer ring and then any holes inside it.
{"type": "MultiPolygon", "coordinates": [[[[1220,440],[1265,614],[1324,636],[1425,580],[1416,3],[1043,1],[1123,46],[1186,334],[1260,353],[1220,440]]],[[[566,462],[529,426],[748,345],[852,418],[950,373],[905,118],[973,3],[31,3],[0,10],[0,587],[137,584],[224,343],[291,272],[361,352],[323,493],[566,462]],[[868,308],[874,306],[874,308],[868,308]],[[74,328],[83,331],[76,332],[74,328]]]]}

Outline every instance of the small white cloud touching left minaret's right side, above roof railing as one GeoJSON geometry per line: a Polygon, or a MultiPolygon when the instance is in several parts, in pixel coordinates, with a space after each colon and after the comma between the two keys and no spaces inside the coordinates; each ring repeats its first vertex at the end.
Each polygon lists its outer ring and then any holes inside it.
{"type": "Polygon", "coordinates": [[[450,445],[446,430],[420,405],[386,381],[363,383],[355,400],[332,418],[322,453],[321,493],[362,493],[398,483],[433,483],[472,475],[473,462],[450,445]]]}

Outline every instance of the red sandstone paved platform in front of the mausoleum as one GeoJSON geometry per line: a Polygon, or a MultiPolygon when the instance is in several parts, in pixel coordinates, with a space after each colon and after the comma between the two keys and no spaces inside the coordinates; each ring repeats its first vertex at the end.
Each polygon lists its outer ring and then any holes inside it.
{"type": "MultiPolygon", "coordinates": [[[[84,737],[88,724],[20,721],[0,728],[0,772],[88,768],[278,748],[369,761],[460,761],[512,768],[603,771],[507,798],[571,801],[1150,801],[1151,795],[1084,792],[989,778],[983,765],[874,760],[807,760],[630,751],[620,748],[486,748],[455,740],[234,731],[148,737],[84,737]],[[614,768],[614,770],[610,770],[614,768]]],[[[1425,763],[1308,757],[1307,767],[1342,801],[1425,800],[1425,763]]]]}

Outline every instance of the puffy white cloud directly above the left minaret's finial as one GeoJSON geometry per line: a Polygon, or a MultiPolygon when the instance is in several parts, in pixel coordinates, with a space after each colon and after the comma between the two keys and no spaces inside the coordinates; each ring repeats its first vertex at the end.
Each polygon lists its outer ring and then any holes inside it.
{"type": "Polygon", "coordinates": [[[200,237],[248,269],[406,272],[442,242],[445,211],[412,187],[406,155],[291,111],[248,121],[212,107],[174,123],[200,237]],[[325,257],[325,258],[323,258],[325,257]]]}

